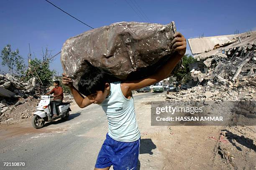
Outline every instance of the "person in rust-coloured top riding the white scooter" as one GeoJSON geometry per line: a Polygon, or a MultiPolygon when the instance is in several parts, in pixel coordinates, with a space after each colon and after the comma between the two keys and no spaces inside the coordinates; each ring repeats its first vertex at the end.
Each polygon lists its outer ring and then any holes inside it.
{"type": "Polygon", "coordinates": [[[58,116],[57,115],[58,111],[57,111],[56,105],[61,104],[61,102],[63,100],[63,89],[62,89],[62,87],[59,87],[59,80],[54,81],[53,85],[54,85],[54,88],[50,92],[45,94],[45,95],[50,95],[50,94],[54,93],[54,96],[53,96],[54,99],[53,99],[53,101],[50,102],[51,113],[54,114],[52,118],[58,116]]]}

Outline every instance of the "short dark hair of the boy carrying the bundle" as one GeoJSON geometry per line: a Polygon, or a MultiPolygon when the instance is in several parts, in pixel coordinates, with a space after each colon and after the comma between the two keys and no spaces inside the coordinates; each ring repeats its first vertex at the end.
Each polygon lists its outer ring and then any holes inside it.
{"type": "Polygon", "coordinates": [[[87,65],[78,83],[78,90],[85,96],[95,94],[99,90],[104,92],[105,83],[110,83],[110,77],[105,71],[87,65]]]}

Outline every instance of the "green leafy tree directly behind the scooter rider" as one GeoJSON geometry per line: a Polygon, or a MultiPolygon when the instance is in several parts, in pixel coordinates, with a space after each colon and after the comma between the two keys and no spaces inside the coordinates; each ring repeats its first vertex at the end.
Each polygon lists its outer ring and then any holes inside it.
{"type": "Polygon", "coordinates": [[[28,61],[28,69],[26,70],[26,79],[32,77],[39,78],[39,82],[43,86],[49,86],[52,83],[52,76],[56,73],[55,70],[50,70],[50,60],[39,60],[34,58],[28,61]]]}

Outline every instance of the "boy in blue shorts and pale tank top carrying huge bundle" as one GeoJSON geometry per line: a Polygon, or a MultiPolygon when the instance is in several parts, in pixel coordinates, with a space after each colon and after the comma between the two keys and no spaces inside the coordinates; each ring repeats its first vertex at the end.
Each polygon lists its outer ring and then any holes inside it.
{"type": "Polygon", "coordinates": [[[78,90],[72,79],[63,73],[62,83],[67,85],[81,108],[92,103],[102,106],[108,118],[108,133],[98,154],[95,170],[136,170],[140,132],[136,121],[132,90],[152,85],[166,78],[186,52],[186,39],[176,32],[173,35],[174,55],[153,75],[141,80],[111,82],[110,75],[92,65],[86,67],[78,90]],[[85,95],[86,97],[84,97],[85,95]]]}

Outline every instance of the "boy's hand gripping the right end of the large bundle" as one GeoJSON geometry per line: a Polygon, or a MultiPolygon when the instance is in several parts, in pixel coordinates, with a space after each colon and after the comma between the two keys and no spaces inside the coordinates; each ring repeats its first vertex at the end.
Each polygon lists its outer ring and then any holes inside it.
{"type": "Polygon", "coordinates": [[[186,38],[180,33],[176,32],[173,35],[172,48],[179,53],[179,55],[184,55],[186,53],[187,41],[186,38]]]}

